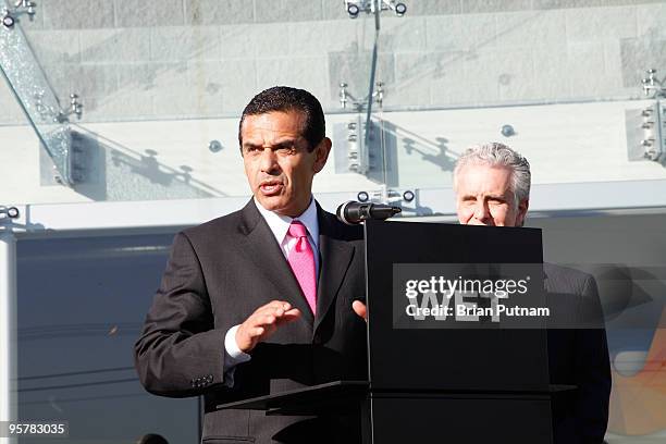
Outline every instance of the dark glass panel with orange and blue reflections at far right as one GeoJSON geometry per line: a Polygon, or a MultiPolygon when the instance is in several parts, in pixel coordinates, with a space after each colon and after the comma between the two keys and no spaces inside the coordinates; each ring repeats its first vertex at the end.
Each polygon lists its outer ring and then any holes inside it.
{"type": "Polygon", "coordinates": [[[613,392],[606,442],[666,436],[666,215],[532,219],[544,260],[594,275],[606,317],[613,392]]]}

